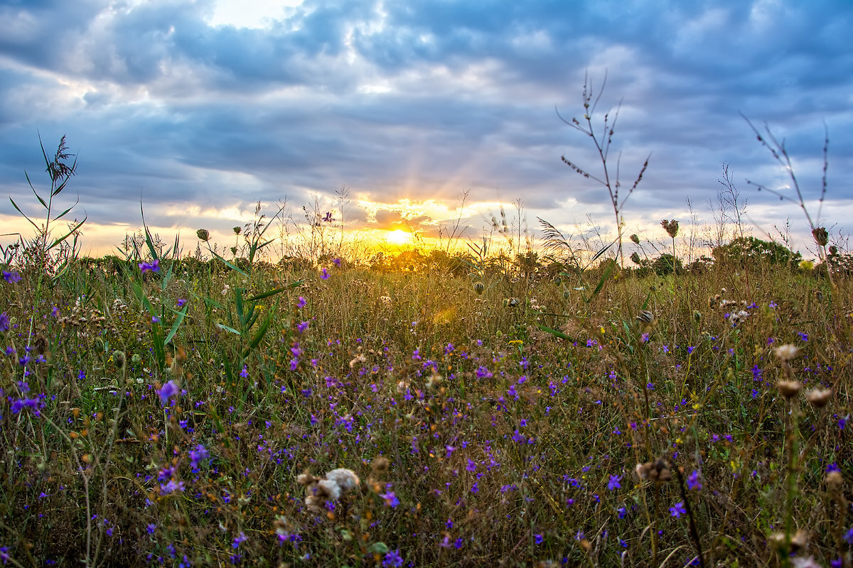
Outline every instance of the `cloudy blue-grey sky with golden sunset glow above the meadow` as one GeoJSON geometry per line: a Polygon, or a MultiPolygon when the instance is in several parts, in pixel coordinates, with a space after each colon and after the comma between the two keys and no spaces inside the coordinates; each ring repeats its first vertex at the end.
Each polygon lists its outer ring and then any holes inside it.
{"type": "MultiPolygon", "coordinates": [[[[359,234],[461,218],[478,239],[503,207],[532,235],[537,217],[612,235],[606,188],[561,160],[603,176],[564,122],[583,121],[586,81],[597,134],[618,112],[621,198],[651,157],[626,234],[712,223],[728,164],[752,234],[790,220],[804,249],[790,178],[746,118],[785,141],[815,222],[849,232],[851,32],[850,0],[0,0],[0,188],[40,222],[25,172],[44,192],[39,137],[50,153],[67,135],[78,174],[57,209],[78,202],[91,255],[142,227],[141,205],[186,250],[284,200],[359,234]]],[[[32,236],[6,196],[0,222],[32,236]]]]}

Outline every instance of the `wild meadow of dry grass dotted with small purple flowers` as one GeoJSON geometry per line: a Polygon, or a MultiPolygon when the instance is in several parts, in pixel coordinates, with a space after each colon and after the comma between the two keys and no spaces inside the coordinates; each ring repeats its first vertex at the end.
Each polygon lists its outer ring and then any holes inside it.
{"type": "Polygon", "coordinates": [[[51,228],[67,158],[2,251],[3,565],[850,567],[825,231],[817,266],[741,232],[682,267],[666,220],[655,257],[545,223],[538,252],[273,263],[260,216],[230,254],[143,227],[86,259],[51,228]]]}

